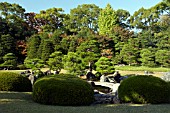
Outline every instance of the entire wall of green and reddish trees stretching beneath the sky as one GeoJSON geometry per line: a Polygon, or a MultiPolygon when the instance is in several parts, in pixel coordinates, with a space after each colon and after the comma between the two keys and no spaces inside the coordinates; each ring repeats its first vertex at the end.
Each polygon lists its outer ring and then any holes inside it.
{"type": "Polygon", "coordinates": [[[133,15],[110,4],[81,4],[66,14],[56,7],[26,13],[19,4],[0,2],[1,66],[110,73],[115,64],[170,67],[169,54],[169,0],[133,15]]]}

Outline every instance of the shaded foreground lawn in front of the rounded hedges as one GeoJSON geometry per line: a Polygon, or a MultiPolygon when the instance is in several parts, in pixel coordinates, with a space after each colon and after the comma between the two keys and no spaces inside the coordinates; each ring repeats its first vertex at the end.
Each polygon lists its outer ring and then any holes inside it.
{"type": "Polygon", "coordinates": [[[50,106],[35,103],[31,93],[0,92],[0,113],[170,113],[170,104],[50,106]]]}

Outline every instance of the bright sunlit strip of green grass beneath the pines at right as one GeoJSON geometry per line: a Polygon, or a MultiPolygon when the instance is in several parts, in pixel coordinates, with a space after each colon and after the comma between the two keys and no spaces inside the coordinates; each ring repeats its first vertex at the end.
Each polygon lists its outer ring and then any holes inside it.
{"type": "Polygon", "coordinates": [[[122,70],[122,71],[152,71],[152,72],[170,71],[170,68],[163,68],[163,67],[150,68],[144,66],[115,66],[115,69],[122,70]]]}

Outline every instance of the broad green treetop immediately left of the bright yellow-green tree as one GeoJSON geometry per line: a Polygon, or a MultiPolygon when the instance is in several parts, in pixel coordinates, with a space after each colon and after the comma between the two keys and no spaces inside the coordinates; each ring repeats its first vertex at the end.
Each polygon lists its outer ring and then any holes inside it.
{"type": "Polygon", "coordinates": [[[94,32],[98,31],[98,15],[100,8],[95,4],[82,4],[71,9],[68,28],[71,32],[78,32],[81,29],[89,28],[94,32]]]}

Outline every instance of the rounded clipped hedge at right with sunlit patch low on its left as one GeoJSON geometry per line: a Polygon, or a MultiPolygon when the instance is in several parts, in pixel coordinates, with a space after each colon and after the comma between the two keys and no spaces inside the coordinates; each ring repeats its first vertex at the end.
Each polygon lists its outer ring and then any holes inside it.
{"type": "Polygon", "coordinates": [[[168,83],[154,76],[132,76],[122,81],[118,97],[122,102],[168,103],[168,83]]]}

